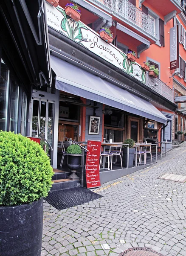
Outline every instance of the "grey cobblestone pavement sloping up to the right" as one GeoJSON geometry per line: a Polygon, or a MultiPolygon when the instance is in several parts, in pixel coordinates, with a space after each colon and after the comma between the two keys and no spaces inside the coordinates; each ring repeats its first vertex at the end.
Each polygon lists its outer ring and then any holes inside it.
{"type": "Polygon", "coordinates": [[[186,184],[157,179],[163,173],[186,175],[186,142],[94,189],[98,200],[61,211],[45,203],[42,256],[117,256],[130,247],[186,256],[186,184]]]}

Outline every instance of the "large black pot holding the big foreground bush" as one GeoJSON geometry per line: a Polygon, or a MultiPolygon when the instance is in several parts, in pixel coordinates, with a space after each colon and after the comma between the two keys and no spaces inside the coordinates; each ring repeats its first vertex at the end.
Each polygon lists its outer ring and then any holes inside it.
{"type": "Polygon", "coordinates": [[[32,204],[0,207],[0,255],[40,256],[43,198],[32,204]]]}

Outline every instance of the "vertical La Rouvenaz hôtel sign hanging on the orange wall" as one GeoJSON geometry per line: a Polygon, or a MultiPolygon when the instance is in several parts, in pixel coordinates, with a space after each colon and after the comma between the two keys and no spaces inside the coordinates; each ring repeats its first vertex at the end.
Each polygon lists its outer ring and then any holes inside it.
{"type": "Polygon", "coordinates": [[[174,26],[170,29],[170,70],[179,67],[179,27],[174,26]]]}

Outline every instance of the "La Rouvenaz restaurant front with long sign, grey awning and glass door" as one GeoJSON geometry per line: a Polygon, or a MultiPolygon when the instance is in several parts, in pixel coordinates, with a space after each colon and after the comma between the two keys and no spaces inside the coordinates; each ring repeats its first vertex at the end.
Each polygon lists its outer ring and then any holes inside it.
{"type": "Polygon", "coordinates": [[[67,138],[172,142],[173,90],[166,84],[164,96],[153,90],[158,80],[149,78],[138,59],[130,61],[61,6],[46,2],[46,13],[53,88],[33,90],[28,133],[51,143],[53,168],[61,158],[58,142],[67,138]]]}

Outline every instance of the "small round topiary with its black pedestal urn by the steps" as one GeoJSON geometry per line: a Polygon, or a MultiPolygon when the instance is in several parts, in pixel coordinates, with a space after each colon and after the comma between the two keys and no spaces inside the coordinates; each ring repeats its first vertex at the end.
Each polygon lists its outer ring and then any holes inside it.
{"type": "Polygon", "coordinates": [[[68,146],[66,153],[68,155],[68,168],[71,170],[72,174],[68,177],[70,180],[79,180],[76,175],[76,170],[79,169],[80,157],[82,157],[82,150],[79,145],[72,144],[68,146]]]}

